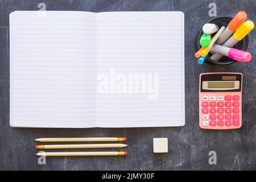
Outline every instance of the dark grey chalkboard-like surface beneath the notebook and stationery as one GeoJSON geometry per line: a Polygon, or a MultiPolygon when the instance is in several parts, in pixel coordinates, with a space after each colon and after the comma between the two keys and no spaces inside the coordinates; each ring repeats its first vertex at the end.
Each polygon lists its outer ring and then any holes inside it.
{"type": "Polygon", "coordinates": [[[217,15],[235,15],[245,10],[256,22],[256,1],[0,1],[0,169],[24,170],[237,170],[256,169],[256,31],[249,35],[251,63],[228,66],[199,65],[193,56],[194,39],[208,15],[209,3],[217,4],[217,15]],[[184,127],[143,129],[22,129],[9,126],[9,14],[15,10],[38,10],[38,3],[47,10],[72,11],[183,11],[185,13],[185,114],[184,127]],[[232,3],[231,3],[232,2],[232,3]],[[209,131],[198,125],[199,74],[204,72],[242,72],[243,126],[239,130],[209,131]],[[116,137],[128,138],[127,157],[47,158],[39,165],[34,155],[40,137],[116,137]],[[167,137],[168,154],[153,154],[152,138],[167,137]],[[217,152],[217,165],[208,164],[208,152],[217,152]]]}

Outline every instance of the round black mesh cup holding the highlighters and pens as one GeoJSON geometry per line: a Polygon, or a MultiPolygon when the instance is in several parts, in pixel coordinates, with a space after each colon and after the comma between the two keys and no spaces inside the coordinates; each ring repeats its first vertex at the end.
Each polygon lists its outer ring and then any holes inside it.
{"type": "MultiPolygon", "coordinates": [[[[213,19],[209,20],[209,22],[207,22],[207,23],[217,24],[218,27],[222,27],[222,26],[227,27],[230,20],[232,20],[232,17],[230,17],[230,16],[218,16],[216,18],[213,18],[213,19]]],[[[196,36],[196,39],[195,39],[196,51],[198,51],[201,48],[200,38],[201,38],[201,35],[203,35],[203,34],[204,34],[204,32],[201,28],[201,30],[198,32],[198,34],[196,36]]],[[[215,34],[212,34],[212,37],[214,35],[215,34]]],[[[243,38],[240,42],[238,42],[236,44],[236,46],[234,46],[233,48],[240,49],[242,51],[246,51],[247,47],[248,47],[248,44],[249,44],[249,38],[248,38],[248,35],[246,35],[245,38],[243,38]]],[[[212,55],[212,53],[209,52],[207,57],[205,57],[205,60],[204,60],[205,63],[218,64],[218,65],[228,65],[228,64],[233,64],[233,63],[237,62],[236,60],[233,60],[233,59],[231,59],[227,56],[223,56],[220,60],[214,61],[214,60],[210,59],[211,55],[212,55]]]]}

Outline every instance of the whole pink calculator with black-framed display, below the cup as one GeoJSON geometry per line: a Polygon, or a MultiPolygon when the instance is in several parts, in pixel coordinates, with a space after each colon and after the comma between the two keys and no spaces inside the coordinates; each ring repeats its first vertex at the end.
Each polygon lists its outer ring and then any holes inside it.
{"type": "Polygon", "coordinates": [[[228,130],[242,126],[242,73],[202,73],[199,126],[228,130]]]}

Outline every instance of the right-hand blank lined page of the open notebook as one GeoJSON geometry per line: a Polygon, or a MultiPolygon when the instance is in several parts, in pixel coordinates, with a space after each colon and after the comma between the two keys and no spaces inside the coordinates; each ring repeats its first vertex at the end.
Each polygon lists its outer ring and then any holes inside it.
{"type": "Polygon", "coordinates": [[[97,13],[97,76],[97,126],[183,126],[184,14],[97,13]],[[133,73],[142,74],[147,86],[155,84],[155,94],[129,90],[145,86],[125,84],[133,73]]]}

